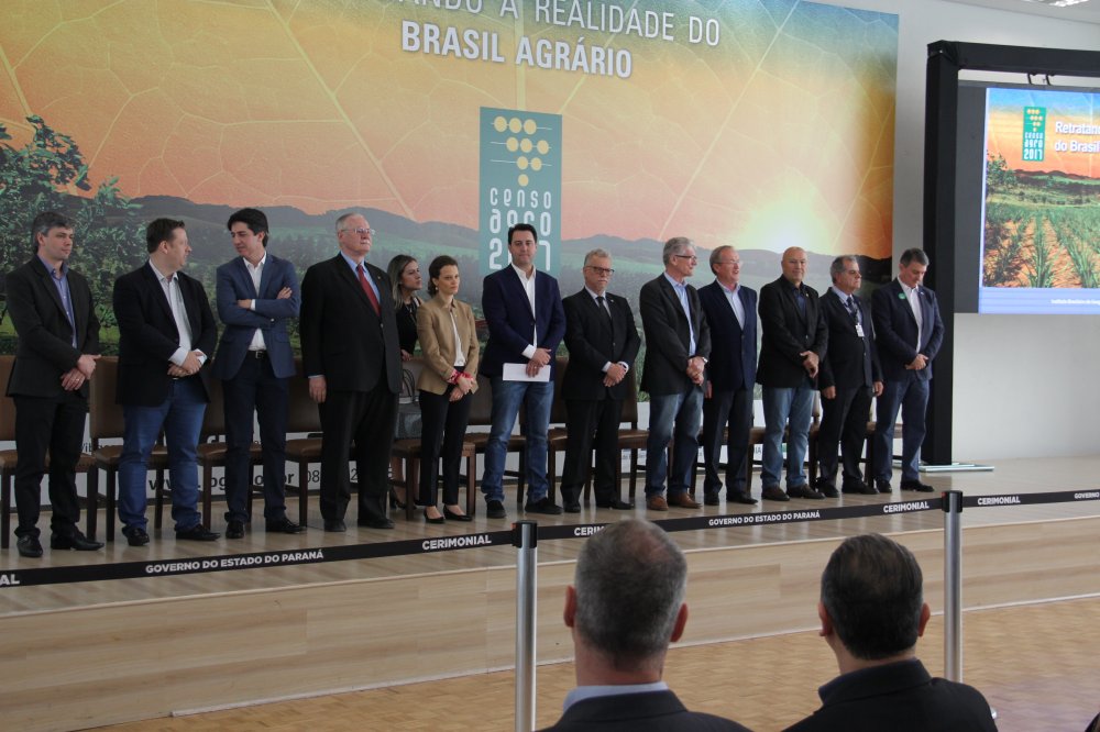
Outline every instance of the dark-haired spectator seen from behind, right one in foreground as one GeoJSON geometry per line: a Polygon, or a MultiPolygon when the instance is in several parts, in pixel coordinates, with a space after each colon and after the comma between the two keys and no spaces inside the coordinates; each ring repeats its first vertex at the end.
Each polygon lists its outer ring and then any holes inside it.
{"type": "Polygon", "coordinates": [[[997,730],[980,691],[933,678],[917,659],[931,614],[912,552],[878,534],[845,540],[817,603],[840,675],[817,690],[822,708],[788,732],[997,730]]]}

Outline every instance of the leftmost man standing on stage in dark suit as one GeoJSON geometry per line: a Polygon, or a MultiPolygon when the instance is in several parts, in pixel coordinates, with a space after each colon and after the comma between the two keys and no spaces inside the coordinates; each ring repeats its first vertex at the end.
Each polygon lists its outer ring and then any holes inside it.
{"type": "Polygon", "coordinates": [[[88,414],[88,379],[99,358],[99,319],[88,280],[73,271],[73,222],[54,211],[31,225],[36,255],[8,275],[8,312],[19,336],[8,396],[15,403],[15,544],[42,556],[38,509],[50,455],[50,548],[95,551],[77,523],[76,464],[88,414]]]}

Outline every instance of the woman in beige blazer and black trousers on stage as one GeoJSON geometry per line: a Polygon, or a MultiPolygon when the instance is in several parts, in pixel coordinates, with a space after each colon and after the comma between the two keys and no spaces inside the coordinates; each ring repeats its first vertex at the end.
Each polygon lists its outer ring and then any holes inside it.
{"type": "Polygon", "coordinates": [[[417,379],[420,389],[420,496],[428,523],[470,521],[459,506],[459,465],[462,437],[470,421],[471,396],[477,390],[480,346],[474,312],[460,302],[459,263],[447,255],[428,267],[430,300],[417,312],[417,337],[425,365],[417,379]],[[439,458],[443,458],[443,512],[437,504],[439,458]]]}

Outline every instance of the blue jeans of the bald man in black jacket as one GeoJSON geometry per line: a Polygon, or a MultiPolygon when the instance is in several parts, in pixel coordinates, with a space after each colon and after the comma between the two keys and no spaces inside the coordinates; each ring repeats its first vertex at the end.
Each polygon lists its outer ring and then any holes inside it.
{"type": "Polygon", "coordinates": [[[783,473],[783,428],[790,422],[787,439],[787,488],[806,485],[802,463],[810,445],[810,420],[813,418],[814,389],[809,386],[763,388],[763,468],[765,488],[779,486],[783,473]]]}

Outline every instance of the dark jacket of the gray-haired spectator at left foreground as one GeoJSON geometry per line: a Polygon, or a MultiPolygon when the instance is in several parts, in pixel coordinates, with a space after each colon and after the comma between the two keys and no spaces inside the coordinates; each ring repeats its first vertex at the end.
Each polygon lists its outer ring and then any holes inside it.
{"type": "MultiPolygon", "coordinates": [[[[686,367],[685,367],[686,368],[686,367]]],[[[546,732],[748,732],[722,717],[688,711],[672,691],[647,691],[579,701],[546,732]]]]}

